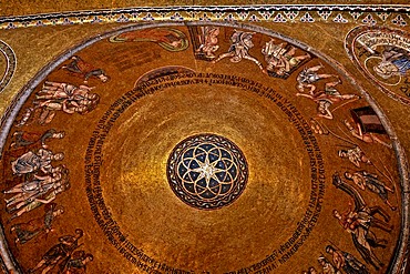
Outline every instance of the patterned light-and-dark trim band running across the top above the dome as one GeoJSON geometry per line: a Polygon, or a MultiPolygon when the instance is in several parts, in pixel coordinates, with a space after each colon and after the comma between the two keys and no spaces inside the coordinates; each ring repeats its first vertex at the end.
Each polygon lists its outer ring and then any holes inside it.
{"type": "Polygon", "coordinates": [[[211,6],[126,8],[32,16],[2,17],[0,29],[66,26],[101,22],[153,21],[242,21],[242,22],[330,22],[406,27],[410,7],[401,6],[211,6]]]}

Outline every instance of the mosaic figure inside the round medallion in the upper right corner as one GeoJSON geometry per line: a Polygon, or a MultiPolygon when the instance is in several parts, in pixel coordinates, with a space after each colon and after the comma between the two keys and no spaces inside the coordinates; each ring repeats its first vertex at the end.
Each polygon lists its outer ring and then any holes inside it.
{"type": "Polygon", "coordinates": [[[386,47],[381,61],[373,67],[375,72],[388,79],[393,75],[404,77],[410,71],[410,53],[397,47],[386,47]]]}

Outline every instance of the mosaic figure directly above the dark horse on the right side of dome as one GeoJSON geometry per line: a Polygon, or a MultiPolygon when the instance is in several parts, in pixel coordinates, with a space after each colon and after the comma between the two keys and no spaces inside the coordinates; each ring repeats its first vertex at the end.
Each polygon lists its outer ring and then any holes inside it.
{"type": "Polygon", "coordinates": [[[397,210],[397,207],[388,200],[388,193],[394,193],[394,191],[388,187],[377,174],[372,174],[367,171],[357,171],[353,173],[345,172],[345,177],[352,181],[360,190],[369,190],[370,192],[378,194],[392,211],[397,210]]]}

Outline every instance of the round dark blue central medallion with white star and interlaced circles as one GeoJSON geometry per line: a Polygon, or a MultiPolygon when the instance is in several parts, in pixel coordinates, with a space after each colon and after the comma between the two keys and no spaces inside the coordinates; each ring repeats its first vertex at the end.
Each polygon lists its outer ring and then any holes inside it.
{"type": "Polygon", "coordinates": [[[176,196],[199,210],[233,203],[248,177],[239,148],[215,134],[198,134],[178,143],[168,158],[166,173],[176,196]]]}

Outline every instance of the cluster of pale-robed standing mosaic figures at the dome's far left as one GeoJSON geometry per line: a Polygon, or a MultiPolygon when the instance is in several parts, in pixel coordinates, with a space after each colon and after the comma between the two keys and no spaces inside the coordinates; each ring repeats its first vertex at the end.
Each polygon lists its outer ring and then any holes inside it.
{"type": "Polygon", "coordinates": [[[19,183],[3,190],[11,220],[51,203],[58,194],[70,189],[69,170],[62,164],[53,165],[64,159],[64,153],[54,153],[47,144],[48,140],[62,139],[64,134],[53,129],[42,134],[14,132],[9,155],[17,158],[10,164],[19,183]]]}

